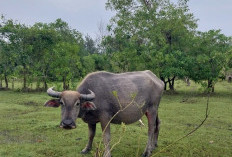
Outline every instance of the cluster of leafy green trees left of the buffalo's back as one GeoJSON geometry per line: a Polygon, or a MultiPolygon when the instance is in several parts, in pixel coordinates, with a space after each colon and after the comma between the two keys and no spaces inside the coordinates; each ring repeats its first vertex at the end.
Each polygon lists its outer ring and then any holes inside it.
{"type": "MultiPolygon", "coordinates": [[[[44,89],[51,80],[69,82],[80,78],[80,57],[85,53],[81,34],[61,19],[54,23],[25,26],[2,16],[0,28],[0,72],[7,77],[23,78],[27,90],[32,81],[44,89]],[[82,51],[82,52],[81,52],[82,51]]],[[[2,79],[1,79],[2,80],[2,79]]]]}

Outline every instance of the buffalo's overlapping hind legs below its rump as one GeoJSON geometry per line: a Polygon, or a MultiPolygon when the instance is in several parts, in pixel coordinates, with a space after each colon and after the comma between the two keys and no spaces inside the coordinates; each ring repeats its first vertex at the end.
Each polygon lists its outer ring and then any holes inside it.
{"type": "Polygon", "coordinates": [[[145,113],[148,120],[148,140],[147,146],[144,150],[143,157],[151,156],[152,151],[155,149],[155,145],[157,144],[158,138],[158,130],[157,130],[157,109],[155,106],[152,106],[145,113]]]}

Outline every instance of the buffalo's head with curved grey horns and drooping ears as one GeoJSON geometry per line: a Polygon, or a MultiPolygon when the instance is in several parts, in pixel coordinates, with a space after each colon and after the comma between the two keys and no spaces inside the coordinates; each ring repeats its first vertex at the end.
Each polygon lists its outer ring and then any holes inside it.
{"type": "Polygon", "coordinates": [[[76,119],[82,110],[96,110],[96,106],[91,102],[95,98],[94,92],[89,90],[90,94],[80,94],[77,91],[63,91],[57,92],[53,87],[47,90],[47,93],[52,99],[47,101],[44,105],[47,107],[61,106],[61,122],[60,127],[65,129],[76,128],[76,119]]]}

